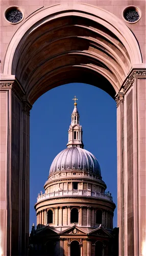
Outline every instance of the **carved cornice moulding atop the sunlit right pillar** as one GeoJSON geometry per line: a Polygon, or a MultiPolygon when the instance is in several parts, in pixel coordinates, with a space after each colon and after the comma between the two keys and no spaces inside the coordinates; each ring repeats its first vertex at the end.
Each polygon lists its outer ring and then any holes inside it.
{"type": "Polygon", "coordinates": [[[129,89],[133,86],[135,78],[145,78],[146,79],[146,69],[132,69],[125,81],[123,82],[119,92],[115,96],[115,101],[117,108],[120,103],[124,102],[124,96],[129,91],[129,89]]]}

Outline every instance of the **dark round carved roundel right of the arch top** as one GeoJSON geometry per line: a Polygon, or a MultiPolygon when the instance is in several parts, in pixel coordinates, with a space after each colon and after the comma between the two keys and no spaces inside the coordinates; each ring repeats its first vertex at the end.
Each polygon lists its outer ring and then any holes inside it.
{"type": "Polygon", "coordinates": [[[123,16],[127,20],[127,22],[135,23],[135,22],[138,22],[141,15],[140,15],[140,10],[138,8],[134,6],[129,6],[124,10],[123,16]]]}

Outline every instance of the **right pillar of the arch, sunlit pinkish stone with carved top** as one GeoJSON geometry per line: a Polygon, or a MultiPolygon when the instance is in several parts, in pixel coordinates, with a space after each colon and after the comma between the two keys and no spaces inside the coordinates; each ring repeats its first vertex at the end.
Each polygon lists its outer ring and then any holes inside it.
{"type": "Polygon", "coordinates": [[[146,71],[131,70],[117,94],[119,255],[142,255],[146,240],[146,71]]]}

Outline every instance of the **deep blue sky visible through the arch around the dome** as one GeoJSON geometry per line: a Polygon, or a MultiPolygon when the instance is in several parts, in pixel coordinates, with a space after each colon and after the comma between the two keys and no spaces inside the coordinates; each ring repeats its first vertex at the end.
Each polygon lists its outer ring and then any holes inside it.
{"type": "MultiPolygon", "coordinates": [[[[30,228],[36,225],[34,205],[50,165],[66,148],[74,96],[78,98],[84,148],[99,161],[107,191],[117,204],[116,103],[103,90],[84,83],[69,83],[43,94],[31,110],[30,228]]],[[[114,212],[117,226],[117,209],[114,212]]]]}

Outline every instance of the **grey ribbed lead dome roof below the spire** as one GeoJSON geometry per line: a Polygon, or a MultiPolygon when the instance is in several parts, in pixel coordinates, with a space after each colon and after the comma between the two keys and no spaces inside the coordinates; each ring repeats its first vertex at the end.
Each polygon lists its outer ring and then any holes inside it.
{"type": "Polygon", "coordinates": [[[87,150],[81,147],[68,147],[61,151],[53,160],[50,167],[51,175],[64,170],[87,170],[101,176],[98,160],[87,150]]]}

